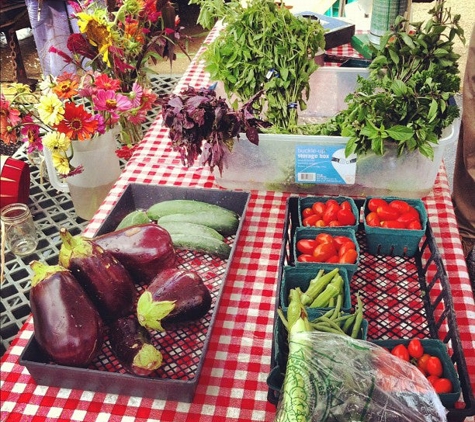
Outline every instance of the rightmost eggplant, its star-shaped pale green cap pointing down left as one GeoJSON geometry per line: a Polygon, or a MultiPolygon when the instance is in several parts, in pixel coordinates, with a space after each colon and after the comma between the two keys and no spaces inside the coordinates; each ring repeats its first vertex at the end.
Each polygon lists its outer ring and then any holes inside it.
{"type": "Polygon", "coordinates": [[[137,302],[137,319],[147,329],[196,320],[211,308],[211,294],[194,271],[170,268],[157,274],[137,302]]]}

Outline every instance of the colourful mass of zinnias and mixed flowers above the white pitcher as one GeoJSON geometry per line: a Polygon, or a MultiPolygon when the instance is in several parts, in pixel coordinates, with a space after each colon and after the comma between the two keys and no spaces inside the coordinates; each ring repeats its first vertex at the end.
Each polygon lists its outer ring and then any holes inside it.
{"type": "Polygon", "coordinates": [[[179,45],[179,19],[167,1],[71,1],[79,33],[71,34],[68,52],[54,47],[76,73],[47,75],[32,92],[13,84],[11,95],[0,96],[0,140],[14,143],[21,136],[28,151],[48,148],[63,177],[73,168],[74,141],[92,139],[117,128],[124,144],[117,153],[128,158],[141,140],[142,123],[156,105],[148,87],[148,63],[173,60],[179,45]]]}

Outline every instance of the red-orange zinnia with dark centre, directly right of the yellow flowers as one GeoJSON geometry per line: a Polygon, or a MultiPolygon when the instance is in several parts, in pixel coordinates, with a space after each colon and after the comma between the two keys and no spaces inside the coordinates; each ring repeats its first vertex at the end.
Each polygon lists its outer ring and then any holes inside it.
{"type": "Polygon", "coordinates": [[[58,124],[56,130],[64,133],[71,140],[83,141],[94,135],[98,125],[98,121],[82,105],[66,103],[64,119],[58,124]]]}

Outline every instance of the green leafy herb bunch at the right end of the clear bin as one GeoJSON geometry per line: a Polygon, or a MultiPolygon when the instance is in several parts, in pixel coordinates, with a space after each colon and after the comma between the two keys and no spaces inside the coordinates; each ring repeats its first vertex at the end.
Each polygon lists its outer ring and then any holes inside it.
{"type": "Polygon", "coordinates": [[[397,144],[398,154],[418,150],[433,159],[433,145],[442,131],[459,115],[449,102],[460,89],[453,50],[460,15],[452,17],[437,2],[425,24],[398,17],[391,31],[381,38],[368,79],[359,78],[357,88],[346,98],[348,107],[322,125],[301,128],[303,133],[349,137],[347,156],[352,153],[385,152],[385,142],[397,144]],[[410,28],[408,30],[408,28],[410,28]]]}

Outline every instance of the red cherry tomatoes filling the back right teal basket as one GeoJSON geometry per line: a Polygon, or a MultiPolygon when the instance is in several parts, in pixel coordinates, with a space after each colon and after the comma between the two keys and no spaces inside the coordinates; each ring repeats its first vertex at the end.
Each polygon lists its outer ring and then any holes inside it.
{"type": "Polygon", "coordinates": [[[368,210],[365,216],[368,226],[387,229],[422,229],[419,211],[403,199],[386,201],[383,198],[371,198],[368,201],[368,210]]]}

